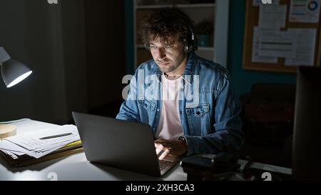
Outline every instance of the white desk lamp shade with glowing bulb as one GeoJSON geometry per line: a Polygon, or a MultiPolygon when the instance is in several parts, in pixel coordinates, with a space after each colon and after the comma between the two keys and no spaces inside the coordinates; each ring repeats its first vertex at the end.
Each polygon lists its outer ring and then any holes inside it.
{"type": "Polygon", "coordinates": [[[32,73],[26,65],[11,59],[3,47],[0,47],[0,64],[2,79],[7,88],[18,84],[32,73]]]}

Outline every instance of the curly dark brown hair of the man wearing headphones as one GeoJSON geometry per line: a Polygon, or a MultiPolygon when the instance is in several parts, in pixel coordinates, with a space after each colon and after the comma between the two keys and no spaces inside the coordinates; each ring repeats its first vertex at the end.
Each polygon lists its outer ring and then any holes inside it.
{"type": "Polygon", "coordinates": [[[168,37],[178,36],[182,44],[194,44],[195,25],[190,17],[177,8],[157,9],[141,22],[138,34],[141,36],[144,46],[149,48],[151,40],[159,37],[161,41],[167,42],[168,37]],[[192,34],[193,33],[193,34],[192,34]]]}

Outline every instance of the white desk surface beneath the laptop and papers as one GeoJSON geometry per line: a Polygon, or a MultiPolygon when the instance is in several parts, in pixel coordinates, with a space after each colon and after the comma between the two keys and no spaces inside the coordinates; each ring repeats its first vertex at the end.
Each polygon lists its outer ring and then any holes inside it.
{"type": "MultiPolygon", "coordinates": [[[[56,126],[40,121],[26,119],[13,123],[17,127],[17,134],[27,131],[35,131],[56,126]]],[[[239,161],[241,165],[246,161],[239,161]]],[[[280,166],[272,166],[267,164],[253,163],[251,167],[263,169],[265,171],[275,171],[284,174],[291,174],[291,169],[280,166]]],[[[0,180],[51,180],[56,178],[63,180],[165,180],[165,181],[184,181],[187,174],[184,173],[182,167],[178,164],[172,170],[165,174],[162,178],[137,174],[131,171],[115,169],[109,166],[91,164],[87,161],[83,152],[72,154],[70,156],[61,157],[51,161],[45,161],[33,166],[21,168],[8,166],[3,159],[0,158],[0,180]]]]}

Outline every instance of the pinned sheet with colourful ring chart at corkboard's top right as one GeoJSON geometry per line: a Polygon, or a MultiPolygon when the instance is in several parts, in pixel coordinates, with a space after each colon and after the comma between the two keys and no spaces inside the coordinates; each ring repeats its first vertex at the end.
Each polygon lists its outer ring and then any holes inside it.
{"type": "Polygon", "coordinates": [[[320,0],[291,0],[290,22],[318,23],[320,0]]]}

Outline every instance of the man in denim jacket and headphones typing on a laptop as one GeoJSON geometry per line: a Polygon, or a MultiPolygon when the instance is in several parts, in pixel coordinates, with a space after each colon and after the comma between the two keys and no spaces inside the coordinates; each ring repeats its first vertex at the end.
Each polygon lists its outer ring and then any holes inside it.
{"type": "Polygon", "coordinates": [[[195,26],[183,11],[160,9],[141,24],[153,59],[131,80],[116,119],[149,124],[159,159],[235,152],[243,145],[240,106],[227,70],[197,56],[195,26]],[[148,95],[149,94],[149,95],[148,95]]]}

